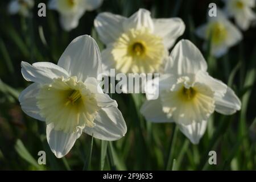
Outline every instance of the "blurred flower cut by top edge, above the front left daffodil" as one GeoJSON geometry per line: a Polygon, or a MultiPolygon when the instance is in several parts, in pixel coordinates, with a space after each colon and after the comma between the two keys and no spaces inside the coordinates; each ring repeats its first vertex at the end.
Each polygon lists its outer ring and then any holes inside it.
{"type": "Polygon", "coordinates": [[[50,0],[49,9],[60,13],[60,23],[64,30],[71,31],[79,25],[79,19],[85,11],[101,6],[103,0],[50,0]]]}

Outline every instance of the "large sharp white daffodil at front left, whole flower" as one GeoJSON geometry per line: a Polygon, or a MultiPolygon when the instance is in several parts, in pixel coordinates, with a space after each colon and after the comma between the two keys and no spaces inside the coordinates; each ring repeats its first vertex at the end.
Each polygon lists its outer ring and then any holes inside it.
{"type": "Polygon", "coordinates": [[[82,132],[102,140],[126,134],[117,102],[98,86],[101,55],[88,35],[74,39],[57,65],[22,62],[22,75],[34,82],[20,93],[22,110],[45,121],[47,141],[57,158],[66,155],[82,132]]]}

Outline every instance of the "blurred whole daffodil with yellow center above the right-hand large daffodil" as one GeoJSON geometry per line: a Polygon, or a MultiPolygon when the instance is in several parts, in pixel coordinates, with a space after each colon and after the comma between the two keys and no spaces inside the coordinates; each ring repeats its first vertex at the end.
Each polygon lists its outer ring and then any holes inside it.
{"type": "MultiPolygon", "coordinates": [[[[234,26],[221,10],[217,9],[216,17],[209,17],[208,22],[196,29],[196,35],[202,39],[209,40],[212,36],[210,52],[215,57],[224,55],[228,49],[242,40],[242,34],[234,26]]],[[[207,43],[204,44],[206,48],[207,43]]]]}

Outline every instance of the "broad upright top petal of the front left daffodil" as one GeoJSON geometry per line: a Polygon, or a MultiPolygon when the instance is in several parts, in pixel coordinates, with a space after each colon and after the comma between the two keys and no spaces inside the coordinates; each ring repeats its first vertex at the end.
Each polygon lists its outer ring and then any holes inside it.
{"type": "Polygon", "coordinates": [[[74,39],[61,55],[58,65],[71,76],[84,82],[87,77],[97,78],[101,73],[101,55],[97,43],[89,35],[74,39]]]}

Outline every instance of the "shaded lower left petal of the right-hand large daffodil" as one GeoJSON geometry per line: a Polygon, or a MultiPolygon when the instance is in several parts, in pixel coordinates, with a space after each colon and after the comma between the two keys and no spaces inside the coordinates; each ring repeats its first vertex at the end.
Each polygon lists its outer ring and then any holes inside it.
{"type": "Polygon", "coordinates": [[[141,114],[149,122],[174,122],[172,118],[167,118],[167,114],[163,112],[163,107],[160,98],[156,100],[145,101],[141,107],[141,114]]]}

